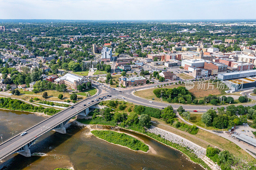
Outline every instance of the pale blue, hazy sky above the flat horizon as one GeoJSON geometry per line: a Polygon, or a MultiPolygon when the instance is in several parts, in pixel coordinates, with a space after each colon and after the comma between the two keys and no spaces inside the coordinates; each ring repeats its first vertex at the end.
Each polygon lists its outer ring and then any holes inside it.
{"type": "Polygon", "coordinates": [[[256,19],[255,0],[0,0],[0,19],[256,19]]]}

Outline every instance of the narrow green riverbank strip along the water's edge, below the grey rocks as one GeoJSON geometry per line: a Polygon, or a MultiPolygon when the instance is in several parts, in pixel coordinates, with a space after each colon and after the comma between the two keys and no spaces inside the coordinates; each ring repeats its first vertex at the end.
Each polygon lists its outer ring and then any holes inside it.
{"type": "MultiPolygon", "coordinates": [[[[74,121],[76,122],[77,125],[79,126],[87,126],[88,127],[88,124],[84,124],[82,122],[78,122],[78,121],[74,121]]],[[[92,124],[92,125],[101,125],[101,124],[92,124]]],[[[111,125],[108,125],[108,126],[111,126],[111,125]]],[[[114,126],[112,126],[114,127],[114,126]]],[[[118,128],[120,129],[126,129],[126,128],[122,128],[122,127],[119,127],[118,128]]],[[[126,130],[129,130],[129,131],[132,131],[132,132],[135,132],[135,133],[139,133],[141,135],[145,135],[147,137],[150,137],[158,142],[160,142],[161,144],[164,144],[168,147],[171,147],[175,150],[178,150],[179,152],[183,153],[184,155],[186,155],[188,157],[188,159],[193,162],[193,163],[196,163],[198,165],[200,165],[201,167],[205,168],[205,169],[211,169],[202,159],[198,158],[198,156],[190,149],[188,149],[187,147],[184,147],[184,146],[181,146],[179,144],[176,144],[176,143],[173,143],[163,137],[161,137],[161,135],[156,135],[154,133],[151,133],[151,132],[145,132],[145,133],[141,133],[141,132],[138,132],[138,131],[135,131],[135,130],[132,130],[132,129],[126,129],[126,130]]]]}

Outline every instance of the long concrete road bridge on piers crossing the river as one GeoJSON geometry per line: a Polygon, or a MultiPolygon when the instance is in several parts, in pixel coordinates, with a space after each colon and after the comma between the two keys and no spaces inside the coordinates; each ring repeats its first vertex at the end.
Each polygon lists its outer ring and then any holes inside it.
{"type": "MultiPolygon", "coordinates": [[[[101,90],[100,90],[101,91],[101,90]]],[[[30,157],[31,153],[29,147],[36,141],[36,139],[42,136],[44,133],[54,130],[59,133],[66,133],[66,129],[64,125],[72,119],[74,116],[80,115],[88,115],[89,107],[93,107],[93,105],[99,103],[100,101],[94,101],[97,98],[97,95],[92,96],[91,98],[87,98],[75,105],[68,107],[65,110],[60,111],[59,113],[45,119],[42,122],[37,123],[36,125],[24,130],[27,132],[24,136],[20,136],[20,134],[9,138],[0,144],[0,160],[6,158],[12,153],[19,153],[23,156],[30,157]],[[87,104],[91,102],[90,104],[87,104]],[[86,106],[83,106],[83,105],[86,106]]],[[[23,131],[23,132],[24,132],[23,131]]]]}

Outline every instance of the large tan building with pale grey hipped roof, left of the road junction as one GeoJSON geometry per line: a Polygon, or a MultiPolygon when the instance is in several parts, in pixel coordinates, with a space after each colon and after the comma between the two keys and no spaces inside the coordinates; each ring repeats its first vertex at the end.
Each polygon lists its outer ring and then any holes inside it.
{"type": "Polygon", "coordinates": [[[88,80],[84,77],[79,77],[74,74],[67,73],[63,77],[56,78],[54,83],[62,85],[65,84],[71,89],[77,90],[77,85],[81,85],[83,83],[87,83],[88,80]]]}

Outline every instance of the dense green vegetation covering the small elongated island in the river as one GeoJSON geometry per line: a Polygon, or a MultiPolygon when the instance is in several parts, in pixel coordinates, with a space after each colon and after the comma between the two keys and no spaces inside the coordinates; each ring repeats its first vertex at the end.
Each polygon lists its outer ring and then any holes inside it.
{"type": "Polygon", "coordinates": [[[134,151],[141,150],[147,152],[149,149],[148,145],[124,133],[118,133],[111,130],[92,130],[91,132],[94,136],[99,137],[100,139],[128,147],[134,151]]]}

